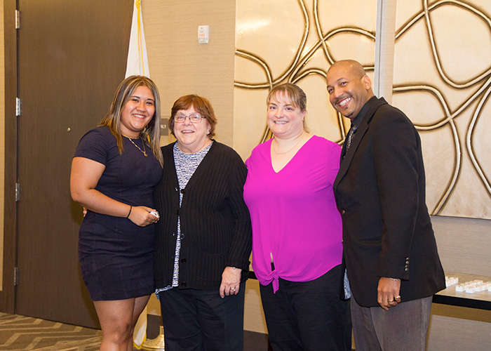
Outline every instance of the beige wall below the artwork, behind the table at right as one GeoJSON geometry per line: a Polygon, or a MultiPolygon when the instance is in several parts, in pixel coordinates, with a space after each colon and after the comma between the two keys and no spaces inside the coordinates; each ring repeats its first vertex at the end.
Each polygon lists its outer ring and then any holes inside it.
{"type": "MultiPolygon", "coordinates": [[[[491,220],[433,216],[438,253],[446,272],[491,277],[491,220]]],[[[491,311],[431,307],[427,350],[488,350],[491,311]]]]}

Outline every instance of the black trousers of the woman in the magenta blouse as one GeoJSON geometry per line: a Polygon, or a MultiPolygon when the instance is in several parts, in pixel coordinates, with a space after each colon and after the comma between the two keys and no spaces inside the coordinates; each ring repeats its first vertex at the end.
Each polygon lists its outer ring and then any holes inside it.
{"type": "Polygon", "coordinates": [[[341,266],[311,282],[260,286],[273,350],[351,350],[349,301],[339,298],[341,266]]]}

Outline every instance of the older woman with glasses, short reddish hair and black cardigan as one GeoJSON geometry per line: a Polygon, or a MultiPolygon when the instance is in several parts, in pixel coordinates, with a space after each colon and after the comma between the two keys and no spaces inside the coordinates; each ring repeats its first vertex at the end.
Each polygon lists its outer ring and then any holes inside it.
{"type": "Polygon", "coordinates": [[[212,139],[217,119],[206,98],[172,108],[177,139],[162,147],[155,207],[155,286],[166,350],[242,350],[245,280],[252,244],[243,201],[247,170],[212,139]]]}

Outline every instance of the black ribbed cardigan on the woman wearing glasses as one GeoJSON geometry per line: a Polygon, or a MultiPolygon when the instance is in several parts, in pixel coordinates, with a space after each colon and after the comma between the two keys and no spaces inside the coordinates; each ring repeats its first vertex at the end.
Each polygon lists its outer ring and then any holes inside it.
{"type": "Polygon", "coordinates": [[[179,289],[219,289],[225,267],[242,269],[245,282],[252,248],[250,215],[243,199],[247,168],[230,147],[213,142],[182,192],[174,143],[162,147],[163,173],[154,190],[156,224],[154,277],[160,289],[172,284],[177,216],[181,221],[179,289]]]}

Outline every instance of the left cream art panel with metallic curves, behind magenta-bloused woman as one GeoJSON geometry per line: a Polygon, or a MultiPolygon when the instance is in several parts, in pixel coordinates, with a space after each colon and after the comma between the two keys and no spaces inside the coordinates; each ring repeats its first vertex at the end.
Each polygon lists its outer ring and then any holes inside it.
{"type": "Polygon", "coordinates": [[[285,82],[307,93],[311,133],[342,143],[349,124],[330,106],[325,72],[344,58],[373,71],[376,8],[376,0],[237,1],[234,147],[244,159],[269,138],[267,94],[285,82]]]}

